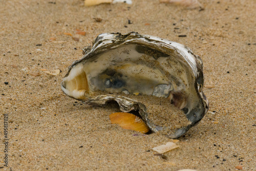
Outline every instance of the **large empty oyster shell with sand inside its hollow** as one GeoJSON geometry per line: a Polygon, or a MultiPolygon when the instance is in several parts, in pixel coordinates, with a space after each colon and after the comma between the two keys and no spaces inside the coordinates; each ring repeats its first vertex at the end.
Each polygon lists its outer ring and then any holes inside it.
{"type": "Polygon", "coordinates": [[[208,111],[199,56],[174,41],[135,32],[103,33],[74,61],[62,91],[87,104],[116,101],[138,111],[150,129],[169,138],[183,135],[208,111]]]}

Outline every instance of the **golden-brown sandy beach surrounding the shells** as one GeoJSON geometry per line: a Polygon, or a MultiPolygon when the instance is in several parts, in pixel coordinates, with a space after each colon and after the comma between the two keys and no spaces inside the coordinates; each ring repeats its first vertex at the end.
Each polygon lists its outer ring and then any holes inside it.
{"type": "Polygon", "coordinates": [[[9,143],[8,167],[0,145],[0,170],[256,170],[256,2],[201,4],[204,10],[153,0],[93,7],[81,0],[1,1],[0,138],[5,142],[8,114],[9,143]],[[109,120],[118,108],[82,104],[60,89],[68,66],[98,34],[130,31],[177,41],[203,59],[209,112],[166,159],[152,148],[168,138],[123,130],[109,120]]]}

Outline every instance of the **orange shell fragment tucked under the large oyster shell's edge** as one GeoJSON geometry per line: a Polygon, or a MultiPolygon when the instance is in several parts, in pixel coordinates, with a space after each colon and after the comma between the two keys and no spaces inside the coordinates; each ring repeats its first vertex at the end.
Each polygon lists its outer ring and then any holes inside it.
{"type": "Polygon", "coordinates": [[[150,128],[143,122],[141,118],[136,115],[117,112],[110,115],[111,123],[117,123],[125,130],[134,130],[140,133],[147,133],[150,128]]]}

